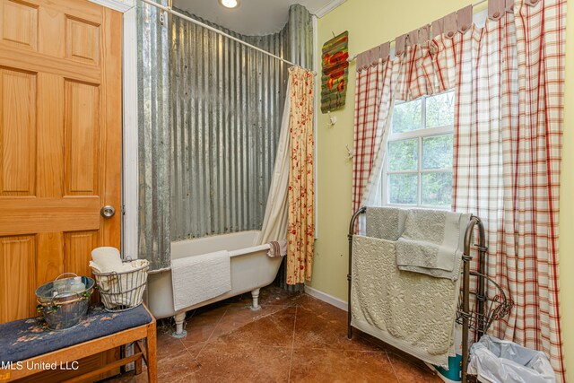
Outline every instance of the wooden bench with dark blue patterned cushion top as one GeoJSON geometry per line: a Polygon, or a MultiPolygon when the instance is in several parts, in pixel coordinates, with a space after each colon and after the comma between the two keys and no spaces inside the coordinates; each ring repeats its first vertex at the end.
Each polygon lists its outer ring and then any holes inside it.
{"type": "Polygon", "coordinates": [[[144,305],[115,313],[91,308],[79,325],[64,331],[49,330],[41,318],[4,323],[0,325],[0,383],[30,377],[47,370],[47,364],[57,363],[67,369],[81,367],[77,361],[82,358],[131,343],[135,344],[133,355],[67,382],[96,379],[130,362],[135,362],[135,373],[139,374],[142,360],[147,365],[148,381],[157,382],[155,318],[150,311],[144,305]]]}

